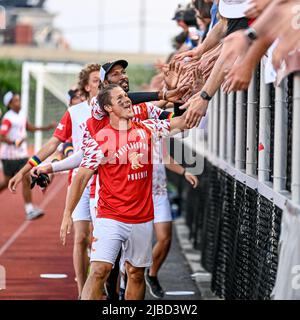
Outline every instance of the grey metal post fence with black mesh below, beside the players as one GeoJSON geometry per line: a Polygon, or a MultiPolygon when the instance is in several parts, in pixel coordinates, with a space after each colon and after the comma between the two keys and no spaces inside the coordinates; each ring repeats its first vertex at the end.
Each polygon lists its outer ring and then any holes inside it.
{"type": "Polygon", "coordinates": [[[300,298],[300,74],[274,88],[263,71],[247,92],[214,96],[200,188],[182,193],[190,237],[225,299],[300,298]]]}

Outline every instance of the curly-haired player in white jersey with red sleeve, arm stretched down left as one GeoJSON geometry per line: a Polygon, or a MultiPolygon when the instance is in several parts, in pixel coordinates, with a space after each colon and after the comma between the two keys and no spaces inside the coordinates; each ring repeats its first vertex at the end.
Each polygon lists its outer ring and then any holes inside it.
{"type": "MultiPolygon", "coordinates": [[[[89,64],[79,74],[79,89],[84,92],[87,100],[69,108],[58,124],[53,137],[38,151],[36,154],[37,164],[40,164],[51,154],[57,147],[72,137],[74,152],[80,149],[83,131],[86,120],[91,117],[91,100],[98,93],[100,84],[99,78],[100,65],[89,64]]],[[[18,173],[9,181],[9,188],[15,192],[17,185],[22,181],[23,176],[32,169],[33,165],[27,163],[18,173]]],[[[74,250],[73,264],[77,279],[78,295],[81,295],[85,283],[89,265],[87,248],[90,243],[90,206],[89,206],[89,189],[88,186],[82,196],[81,201],[74,210],[74,250]]]]}

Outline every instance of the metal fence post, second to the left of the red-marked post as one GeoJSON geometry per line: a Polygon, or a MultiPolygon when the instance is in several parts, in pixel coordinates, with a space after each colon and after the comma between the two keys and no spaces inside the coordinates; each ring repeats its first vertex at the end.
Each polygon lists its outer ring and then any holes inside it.
{"type": "Polygon", "coordinates": [[[239,170],[245,169],[246,164],[246,109],[245,92],[239,91],[236,94],[236,135],[235,135],[235,167],[239,170]]]}

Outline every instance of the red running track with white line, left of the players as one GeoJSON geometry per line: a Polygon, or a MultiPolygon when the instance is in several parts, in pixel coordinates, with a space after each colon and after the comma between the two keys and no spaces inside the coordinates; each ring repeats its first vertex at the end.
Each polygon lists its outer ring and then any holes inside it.
{"type": "Polygon", "coordinates": [[[0,266],[6,272],[6,289],[0,290],[0,300],[77,299],[73,238],[68,238],[66,247],[59,240],[66,190],[65,175],[57,176],[46,194],[36,188],[34,203],[44,209],[45,216],[31,222],[25,220],[20,188],[17,195],[0,194],[0,266]],[[40,278],[53,273],[68,277],[40,278]]]}

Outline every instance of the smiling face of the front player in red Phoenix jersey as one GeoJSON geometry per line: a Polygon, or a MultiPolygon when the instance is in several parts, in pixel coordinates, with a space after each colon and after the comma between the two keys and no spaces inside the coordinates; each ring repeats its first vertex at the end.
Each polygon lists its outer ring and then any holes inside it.
{"type": "Polygon", "coordinates": [[[127,93],[120,87],[113,88],[110,91],[111,104],[105,106],[105,110],[110,116],[116,116],[119,119],[132,119],[134,117],[132,103],[127,93]]]}

